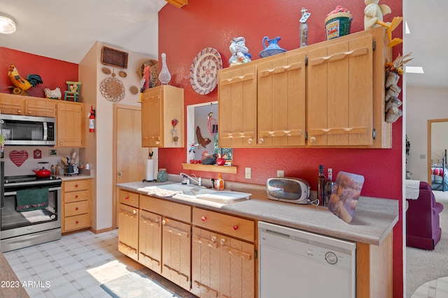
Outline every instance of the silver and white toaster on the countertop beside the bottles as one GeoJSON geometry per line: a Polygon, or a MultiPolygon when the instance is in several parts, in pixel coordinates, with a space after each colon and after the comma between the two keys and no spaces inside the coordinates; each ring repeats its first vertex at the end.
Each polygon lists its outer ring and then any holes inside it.
{"type": "Polygon", "coordinates": [[[269,178],[266,181],[267,198],[295,204],[309,204],[311,188],[308,181],[299,178],[269,178]]]}

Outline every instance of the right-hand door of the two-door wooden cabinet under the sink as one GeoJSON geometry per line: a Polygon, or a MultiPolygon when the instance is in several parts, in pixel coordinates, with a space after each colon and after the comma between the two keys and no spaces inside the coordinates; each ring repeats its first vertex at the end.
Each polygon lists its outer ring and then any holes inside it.
{"type": "Polygon", "coordinates": [[[190,290],[191,225],[162,219],[162,276],[190,290]]]}

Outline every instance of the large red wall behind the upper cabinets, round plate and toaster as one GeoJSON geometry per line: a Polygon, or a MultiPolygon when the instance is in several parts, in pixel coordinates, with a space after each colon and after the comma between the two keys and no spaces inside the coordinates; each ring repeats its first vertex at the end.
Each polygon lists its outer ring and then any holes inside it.
{"type": "MultiPolygon", "coordinates": [[[[402,15],[401,1],[384,0],[392,14],[384,16],[390,22],[393,16],[402,15]]],[[[215,89],[207,96],[197,94],[190,85],[189,73],[193,58],[204,47],[214,47],[228,67],[229,45],[233,37],[244,36],[252,59],[259,59],[263,50],[262,38],[280,36],[279,46],[286,50],[299,47],[299,20],[302,7],[309,17],[308,43],[325,40],[325,17],[336,6],[351,11],[351,32],[364,29],[363,10],[359,0],[190,0],[179,9],[166,5],[159,13],[159,53],[167,54],[167,66],[172,74],[169,84],[185,89],[185,105],[217,100],[215,89]]],[[[402,36],[400,25],[393,32],[402,36]]],[[[402,52],[402,45],[393,49],[394,57],[402,52]]],[[[159,57],[159,60],[160,57],[159,57]]],[[[393,149],[235,149],[234,164],[237,174],[223,174],[228,181],[265,184],[276,176],[276,170],[285,170],[286,176],[300,177],[316,189],[318,165],[332,167],[335,176],[339,170],[362,174],[365,177],[362,195],[391,198],[402,201],[402,118],[393,124],[393,149]],[[252,179],[244,178],[244,167],[252,168],[252,179]]],[[[159,166],[169,173],[183,172],[186,149],[160,149],[159,166]]],[[[196,173],[202,177],[216,177],[216,173],[196,173]]],[[[393,297],[402,297],[402,218],[395,226],[393,237],[393,297]]]]}

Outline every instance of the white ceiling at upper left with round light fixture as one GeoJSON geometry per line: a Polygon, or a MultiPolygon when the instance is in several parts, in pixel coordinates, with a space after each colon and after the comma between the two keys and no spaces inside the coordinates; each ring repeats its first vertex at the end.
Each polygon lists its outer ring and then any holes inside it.
{"type": "Polygon", "coordinates": [[[95,41],[158,57],[165,0],[0,0],[17,31],[0,46],[78,64],[95,41]]]}

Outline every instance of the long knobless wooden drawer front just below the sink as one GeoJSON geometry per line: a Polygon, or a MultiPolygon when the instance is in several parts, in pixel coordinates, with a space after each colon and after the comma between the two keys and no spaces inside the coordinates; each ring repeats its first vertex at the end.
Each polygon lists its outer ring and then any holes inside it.
{"type": "Polygon", "coordinates": [[[190,223],[191,221],[190,206],[156,199],[146,195],[141,195],[140,209],[145,209],[146,211],[151,211],[186,223],[190,223]]]}

